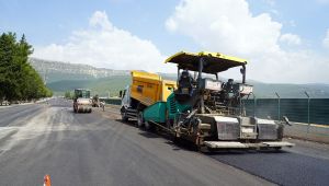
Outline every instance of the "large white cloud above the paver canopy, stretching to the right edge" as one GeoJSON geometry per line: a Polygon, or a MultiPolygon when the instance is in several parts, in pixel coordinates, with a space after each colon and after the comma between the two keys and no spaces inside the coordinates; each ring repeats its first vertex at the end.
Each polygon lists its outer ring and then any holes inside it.
{"type": "MultiPolygon", "coordinates": [[[[248,78],[265,82],[328,82],[328,62],[314,51],[287,51],[280,40],[300,44],[282,34],[269,13],[252,14],[245,0],[181,0],[168,18],[170,32],[192,37],[203,50],[247,58],[248,78]]],[[[235,75],[227,72],[224,75],[235,75]]]]}

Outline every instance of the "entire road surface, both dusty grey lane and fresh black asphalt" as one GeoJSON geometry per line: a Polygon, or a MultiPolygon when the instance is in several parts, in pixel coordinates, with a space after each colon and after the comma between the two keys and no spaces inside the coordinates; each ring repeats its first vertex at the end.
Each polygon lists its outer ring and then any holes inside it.
{"type": "MultiPolygon", "coordinates": [[[[114,112],[115,113],[115,112],[114,112]]],[[[328,185],[329,148],[203,154],[61,98],[0,107],[0,185],[328,185]]]]}

